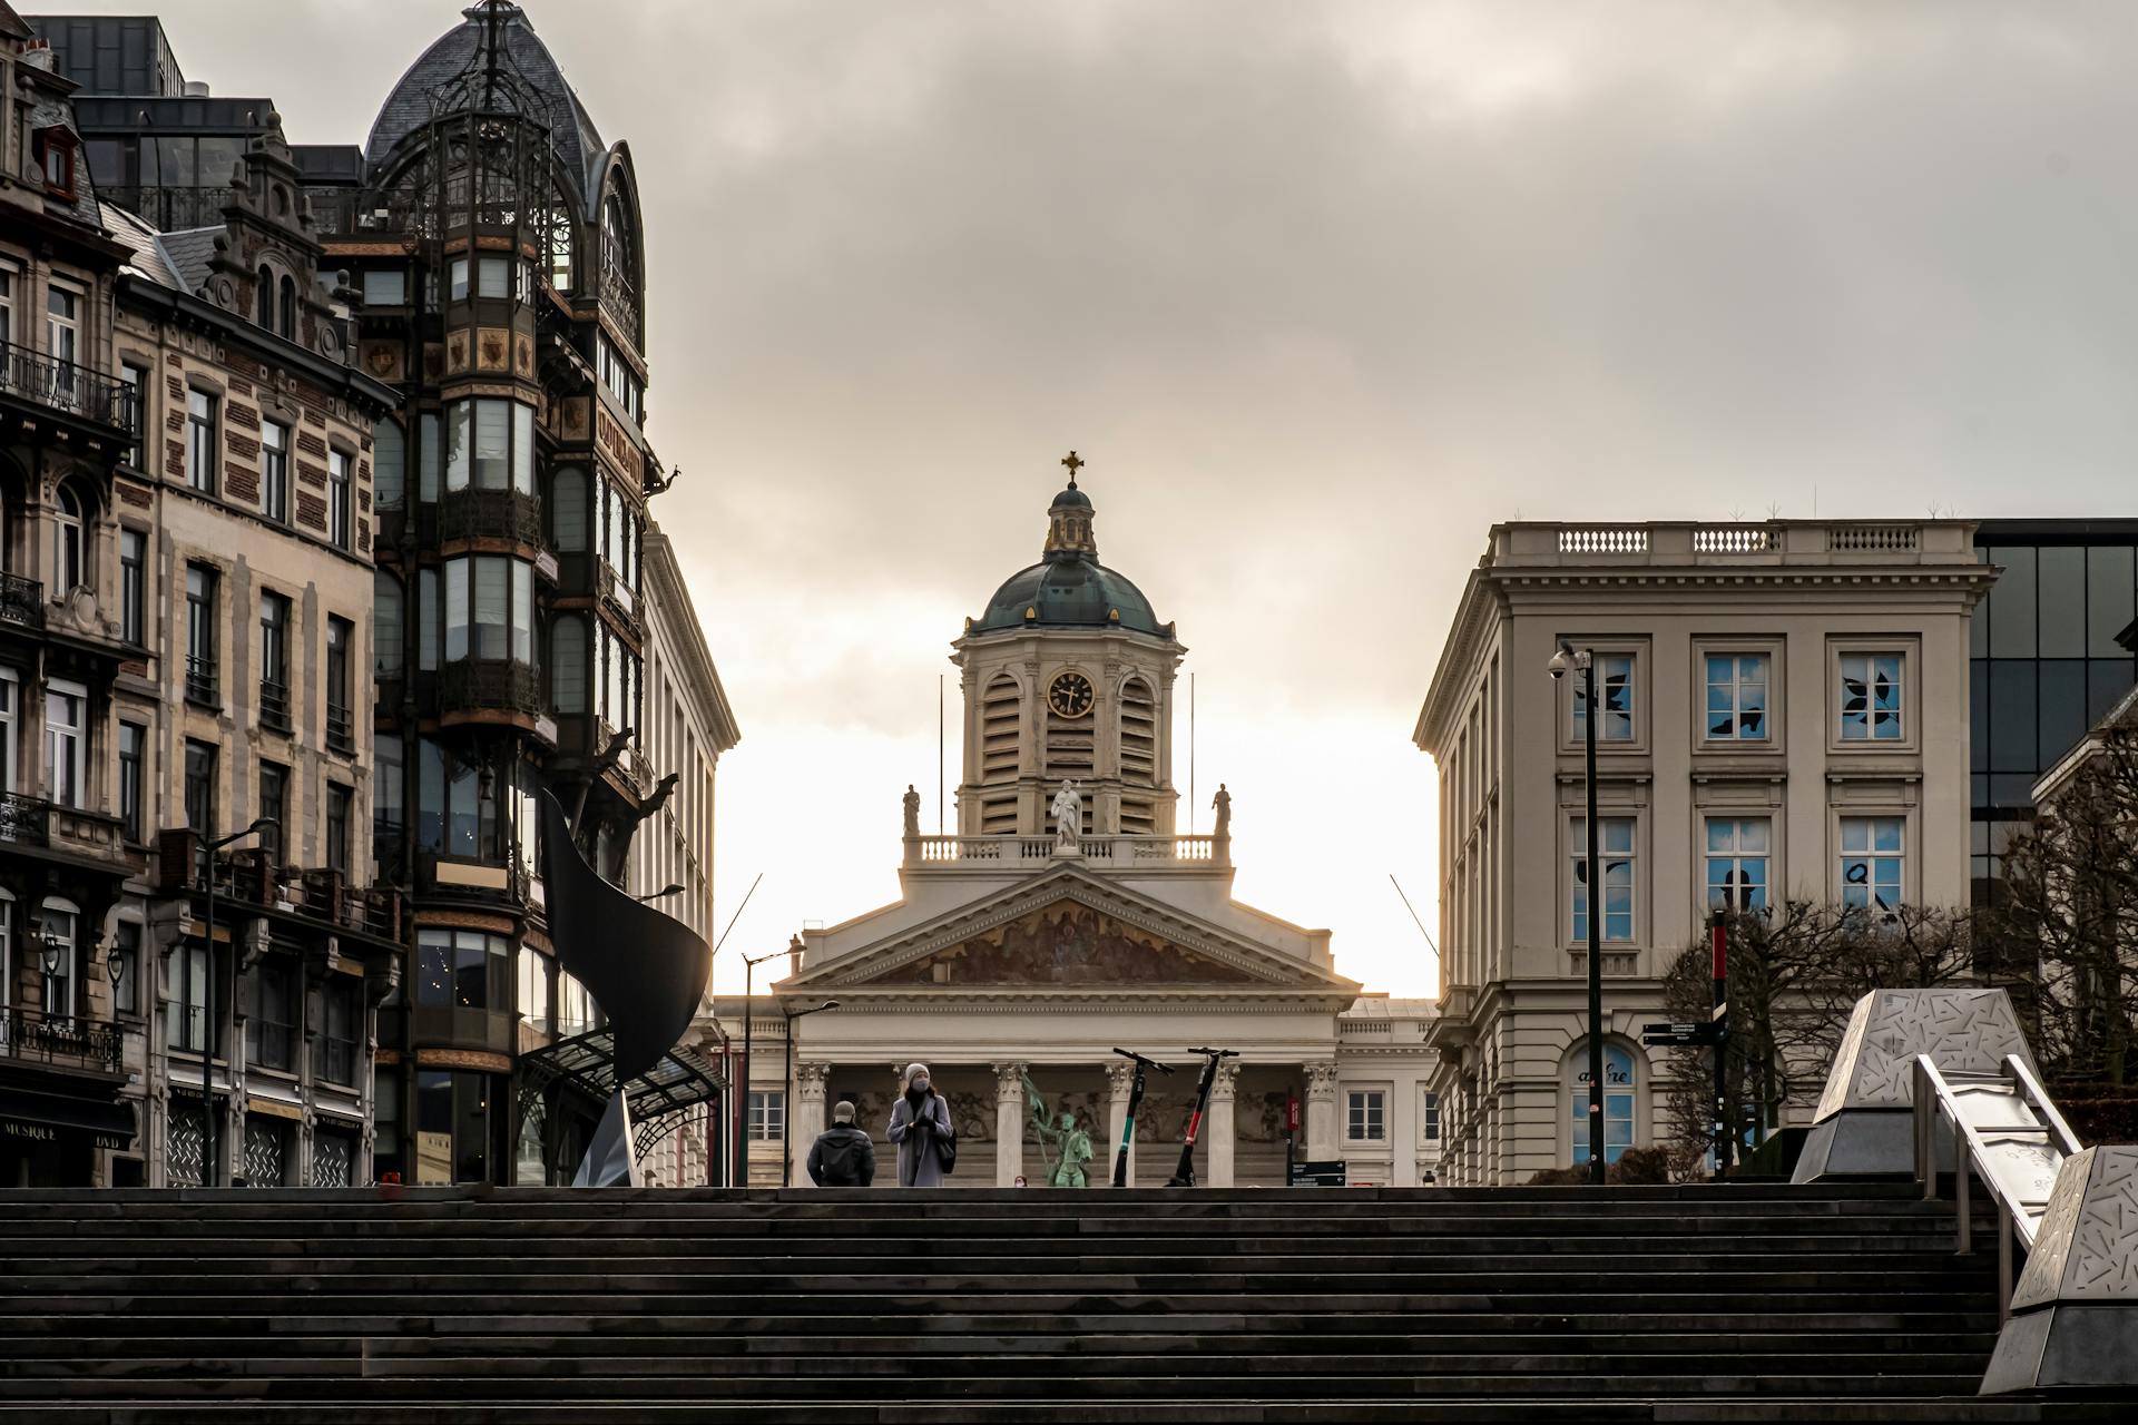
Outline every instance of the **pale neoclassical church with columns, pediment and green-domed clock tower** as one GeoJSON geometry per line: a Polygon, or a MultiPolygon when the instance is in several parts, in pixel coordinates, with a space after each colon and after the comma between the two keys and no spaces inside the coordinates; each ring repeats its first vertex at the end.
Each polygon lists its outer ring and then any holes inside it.
{"type": "Polygon", "coordinates": [[[785,1149],[753,1143],[753,1181],[765,1166],[780,1181],[785,1152],[806,1184],[808,1145],[842,1098],[881,1143],[898,1075],[921,1060],[956,1117],[954,1184],[1105,1186],[1129,1119],[1127,1049],[1172,1068],[1148,1072],[1129,1169],[1131,1184],[1163,1186],[1204,1047],[1238,1058],[1212,1083],[1199,1184],[1285,1186],[1287,1162],[1323,1177],[1343,1162],[1351,1184],[1432,1181],[1432,1004],[1362,993],[1336,972],[1330,931],[1231,897],[1223,788],[1208,835],[1178,831],[1187,647],[1099,562],[1084,461],[1063,464],[1039,562],[951,641],[958,831],[924,835],[909,788],[900,897],[804,931],[772,989],[793,1045],[757,1040],[753,1139],[772,1137],[759,1105],[776,1092],[785,1149]],[[836,1013],[785,1017],[825,1000],[836,1013]]]}

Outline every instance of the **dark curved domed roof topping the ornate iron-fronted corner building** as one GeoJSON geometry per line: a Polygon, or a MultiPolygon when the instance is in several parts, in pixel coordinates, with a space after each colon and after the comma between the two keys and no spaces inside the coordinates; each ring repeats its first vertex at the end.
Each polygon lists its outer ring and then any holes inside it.
{"type": "MultiPolygon", "coordinates": [[[[381,105],[372,122],[372,135],[363,143],[363,154],[372,165],[385,162],[393,145],[428,124],[436,113],[462,109],[481,92],[481,68],[490,21],[485,6],[472,4],[462,11],[460,26],[447,30],[417,56],[408,73],[400,77],[387,103],[381,105]],[[472,75],[472,85],[455,83],[462,75],[472,75]]],[[[573,94],[558,68],[549,47],[537,38],[526,13],[517,4],[498,4],[498,34],[502,60],[498,68],[528,85],[539,122],[549,126],[549,143],[558,160],[579,175],[582,186],[592,182],[607,145],[586,113],[586,105],[573,94]]],[[[515,107],[515,105],[505,105],[515,107]]]]}

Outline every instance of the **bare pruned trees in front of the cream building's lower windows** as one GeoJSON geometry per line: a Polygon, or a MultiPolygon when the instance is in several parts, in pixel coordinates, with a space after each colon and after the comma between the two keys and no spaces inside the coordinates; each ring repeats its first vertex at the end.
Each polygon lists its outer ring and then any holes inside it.
{"type": "MultiPolygon", "coordinates": [[[[1841,1049],[1864,993],[1952,985],[1973,976],[1969,912],[1928,906],[1871,910],[1785,902],[1730,912],[1728,1102],[1734,1137],[1766,1137],[1783,1107],[1809,1105],[1841,1049]]],[[[1715,1004],[1708,942],[1687,946],[1663,972],[1663,1013],[1704,1023],[1715,1004]]],[[[1715,1060],[1670,1049],[1663,1064],[1672,1141],[1689,1158],[1713,1141],[1715,1060]]]]}

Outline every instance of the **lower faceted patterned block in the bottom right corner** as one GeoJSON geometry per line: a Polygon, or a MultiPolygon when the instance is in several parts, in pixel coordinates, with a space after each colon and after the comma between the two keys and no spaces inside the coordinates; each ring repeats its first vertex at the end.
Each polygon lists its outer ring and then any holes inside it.
{"type": "Polygon", "coordinates": [[[2138,1387],[2138,1145],[2072,1154],[2042,1213],[1984,1395],[2138,1387]]]}

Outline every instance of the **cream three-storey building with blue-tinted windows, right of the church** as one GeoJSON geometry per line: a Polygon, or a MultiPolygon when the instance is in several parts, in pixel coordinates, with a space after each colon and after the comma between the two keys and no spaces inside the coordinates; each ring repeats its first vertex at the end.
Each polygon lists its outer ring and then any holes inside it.
{"type": "MultiPolygon", "coordinates": [[[[1578,675],[1593,649],[1606,1154],[1657,1134],[1640,1025],[1710,904],[1967,904],[1967,521],[1494,526],[1417,718],[1439,767],[1443,1181],[1586,1126],[1578,675]]],[[[1586,1145],[1580,1149],[1586,1160],[1586,1145]]]]}

